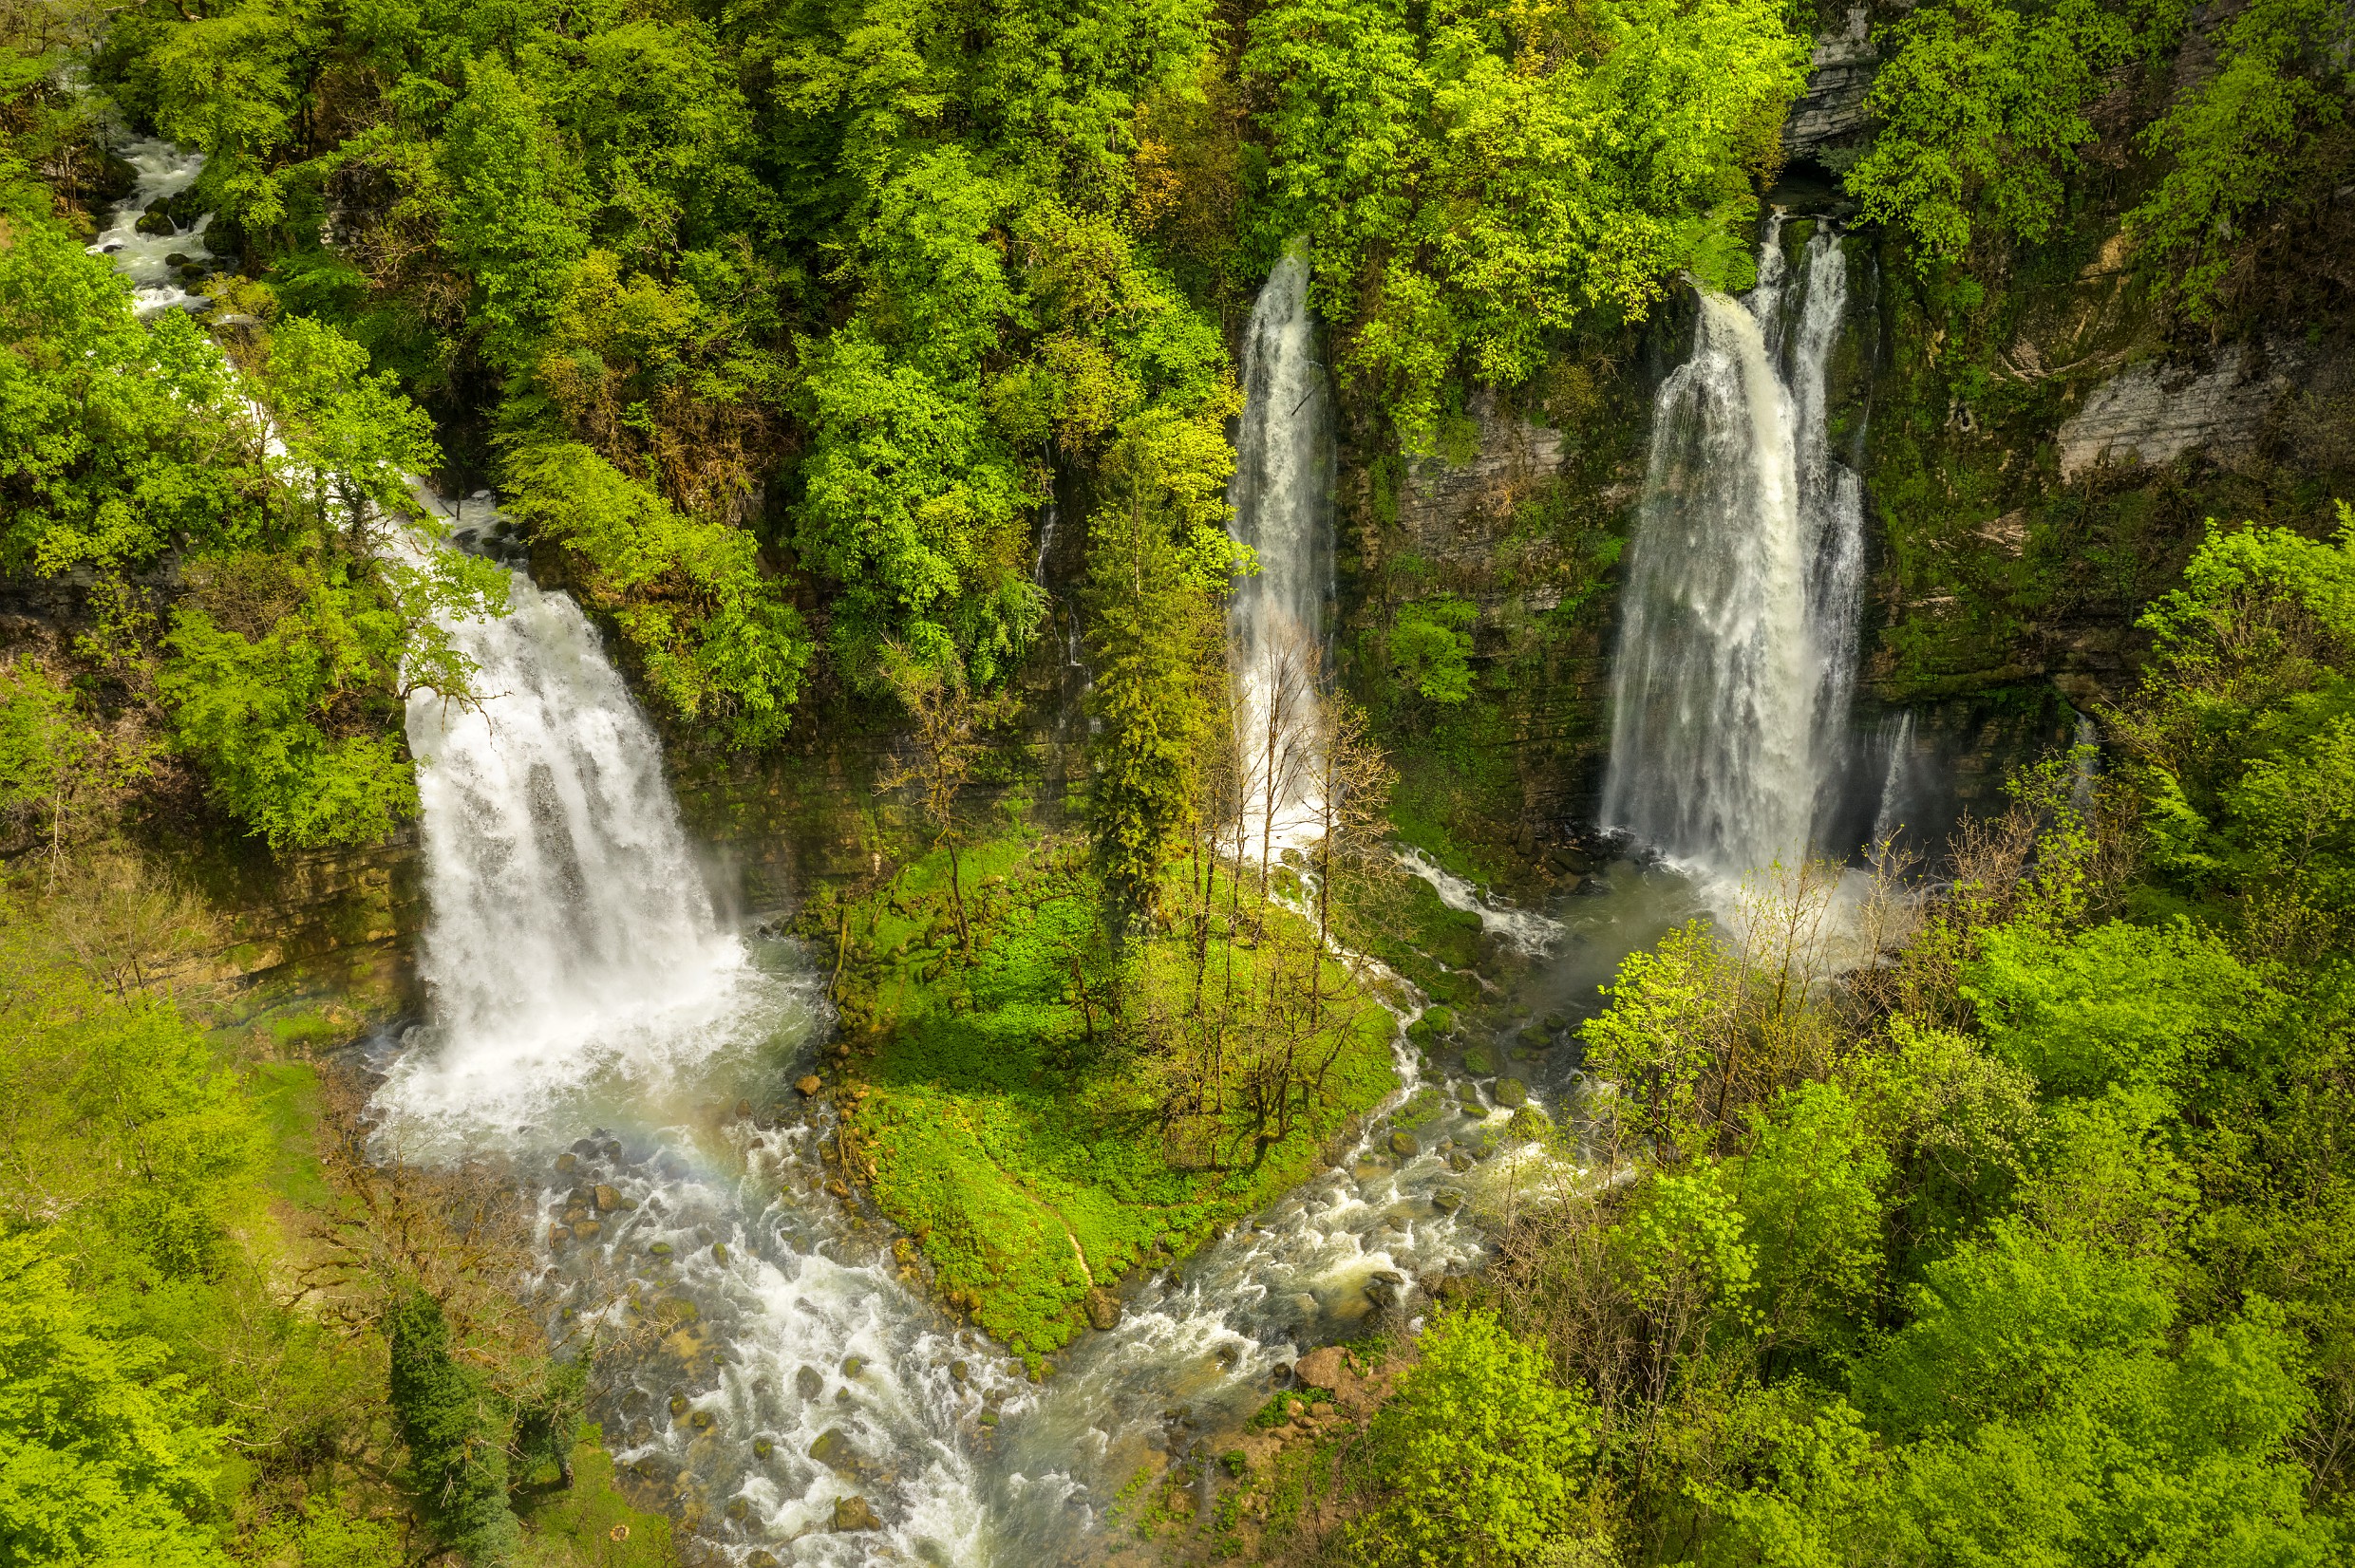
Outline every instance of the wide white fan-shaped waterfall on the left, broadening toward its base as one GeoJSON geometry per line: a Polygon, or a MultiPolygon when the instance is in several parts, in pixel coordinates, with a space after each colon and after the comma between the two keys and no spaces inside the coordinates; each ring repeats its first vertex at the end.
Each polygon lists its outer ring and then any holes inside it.
{"type": "Polygon", "coordinates": [[[407,716],[438,1045],[403,1059],[393,1102],[436,1121],[532,1118],[608,1069],[676,1067],[758,989],[596,631],[520,572],[509,603],[450,629],[483,702],[422,692],[407,716]]]}

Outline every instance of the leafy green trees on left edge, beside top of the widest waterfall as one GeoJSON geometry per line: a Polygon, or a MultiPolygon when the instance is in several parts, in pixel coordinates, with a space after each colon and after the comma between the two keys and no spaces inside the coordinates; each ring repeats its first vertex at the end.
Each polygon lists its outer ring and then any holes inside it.
{"type": "Polygon", "coordinates": [[[94,574],[85,659],[160,704],[231,817],[292,848],[414,812],[403,702],[469,697],[445,622],[504,577],[393,539],[436,447],[358,344],[287,318],[233,372],[40,224],[0,250],[0,560],[94,574]]]}

